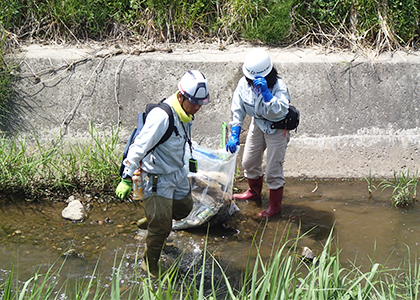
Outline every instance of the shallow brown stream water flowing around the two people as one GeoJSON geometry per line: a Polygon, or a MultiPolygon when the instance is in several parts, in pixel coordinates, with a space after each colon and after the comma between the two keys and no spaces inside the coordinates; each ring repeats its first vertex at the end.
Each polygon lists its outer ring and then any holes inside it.
{"type": "MultiPolygon", "coordinates": [[[[245,182],[237,183],[246,189],[245,182]]],[[[201,259],[207,250],[221,265],[240,280],[249,258],[260,255],[269,259],[276,243],[301,236],[299,247],[309,247],[315,255],[321,252],[331,229],[341,249],[343,265],[355,263],[361,269],[370,267],[370,259],[397,267],[419,250],[419,205],[408,209],[391,206],[390,192],[376,191],[368,199],[366,183],[362,181],[295,181],[285,187],[282,215],[268,222],[257,213],[268,206],[268,190],[263,190],[262,203],[237,202],[239,211],[222,224],[207,228],[174,231],[169,242],[174,248],[162,254],[162,266],[167,268],[180,253],[188,259],[201,259]]],[[[92,274],[99,261],[98,273],[110,278],[115,259],[124,257],[124,272],[132,274],[145,246],[146,231],[138,229],[136,221],[144,216],[140,204],[107,203],[89,195],[80,199],[89,209],[82,223],[72,223],[61,217],[66,203],[8,202],[0,198],[0,283],[8,278],[12,262],[19,267],[19,279],[25,280],[37,270],[63,261],[67,254],[64,279],[92,274]]],[[[235,284],[233,284],[235,285],[235,284]]]]}

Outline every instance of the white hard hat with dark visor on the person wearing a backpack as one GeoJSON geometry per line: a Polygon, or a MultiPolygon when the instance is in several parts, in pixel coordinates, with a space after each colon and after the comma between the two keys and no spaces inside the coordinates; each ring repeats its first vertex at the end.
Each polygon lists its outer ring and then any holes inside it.
{"type": "Polygon", "coordinates": [[[178,89],[194,105],[209,103],[209,85],[206,77],[197,70],[188,71],[178,83],[178,89]]]}

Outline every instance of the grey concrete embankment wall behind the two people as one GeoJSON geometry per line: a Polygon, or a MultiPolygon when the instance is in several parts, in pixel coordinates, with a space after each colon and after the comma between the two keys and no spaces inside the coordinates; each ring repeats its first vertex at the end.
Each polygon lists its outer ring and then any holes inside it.
{"type": "MultiPolygon", "coordinates": [[[[32,45],[20,63],[9,131],[49,139],[88,135],[122,124],[122,143],[147,102],[176,91],[182,74],[202,71],[211,104],[196,115],[193,139],[220,148],[222,122],[250,48],[93,49],[32,45]],[[166,51],[167,50],[167,51],[166,51]]],[[[301,112],[292,132],[285,175],[300,178],[388,178],[420,165],[420,58],[394,53],[366,57],[314,49],[268,49],[301,112]]],[[[245,141],[247,124],[241,136],[245,141]]]]}

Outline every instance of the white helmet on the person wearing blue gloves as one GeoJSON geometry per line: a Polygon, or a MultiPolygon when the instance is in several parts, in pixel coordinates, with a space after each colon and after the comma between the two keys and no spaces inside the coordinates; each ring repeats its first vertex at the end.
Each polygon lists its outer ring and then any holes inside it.
{"type": "Polygon", "coordinates": [[[252,80],[255,79],[255,76],[267,76],[272,69],[273,63],[271,62],[270,56],[263,49],[251,50],[246,55],[244,65],[242,66],[244,75],[252,80]]]}

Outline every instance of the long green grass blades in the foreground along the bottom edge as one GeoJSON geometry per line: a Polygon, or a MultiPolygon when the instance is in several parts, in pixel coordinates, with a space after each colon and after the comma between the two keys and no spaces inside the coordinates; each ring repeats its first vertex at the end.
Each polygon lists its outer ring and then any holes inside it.
{"type": "MultiPolygon", "coordinates": [[[[401,268],[389,269],[371,261],[370,269],[362,272],[356,265],[344,268],[340,263],[339,249],[333,249],[332,231],[321,253],[312,262],[304,261],[298,254],[302,237],[287,238],[273,243],[272,255],[264,261],[254,240],[257,256],[249,258],[249,268],[243,274],[239,286],[233,286],[230,278],[210,255],[203,256],[201,266],[212,260],[214,275],[217,268],[222,272],[225,294],[218,292],[219,284],[204,290],[202,267],[191,267],[193,276],[180,273],[176,261],[158,279],[142,273],[136,260],[130,280],[122,280],[124,258],[115,259],[111,283],[96,269],[73,284],[58,285],[65,261],[61,266],[51,266],[42,273],[38,270],[27,280],[18,280],[12,266],[9,278],[0,285],[2,300],[10,299],[418,299],[420,268],[416,258],[408,258],[401,268]],[[414,260],[414,262],[412,261],[414,260]],[[405,266],[407,264],[407,266],[405,266]],[[190,279],[189,279],[190,278],[190,279]],[[55,297],[55,298],[54,298],[55,297]],[[61,298],[59,298],[61,297],[61,298]]],[[[206,249],[204,249],[205,252],[206,249]]],[[[124,257],[124,256],[123,256],[124,257]]],[[[250,255],[251,257],[251,255],[250,255]]],[[[212,282],[215,278],[213,278],[212,282]]],[[[211,280],[211,278],[210,278],[211,280]]]]}

